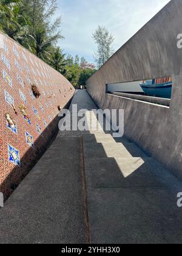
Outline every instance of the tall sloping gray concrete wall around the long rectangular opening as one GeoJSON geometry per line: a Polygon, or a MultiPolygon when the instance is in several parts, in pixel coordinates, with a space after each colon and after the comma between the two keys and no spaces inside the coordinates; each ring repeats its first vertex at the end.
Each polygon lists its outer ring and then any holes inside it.
{"type": "Polygon", "coordinates": [[[124,108],[125,135],[182,178],[182,1],[172,0],[87,81],[101,108],[124,108]],[[170,108],[106,94],[106,84],[172,76],[170,108]]]}

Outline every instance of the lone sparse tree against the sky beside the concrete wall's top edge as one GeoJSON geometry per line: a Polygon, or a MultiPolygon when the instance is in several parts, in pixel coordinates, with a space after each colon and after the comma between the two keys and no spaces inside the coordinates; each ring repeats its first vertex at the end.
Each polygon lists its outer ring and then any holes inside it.
{"type": "Polygon", "coordinates": [[[97,52],[94,54],[98,68],[100,68],[113,54],[112,44],[113,35],[109,34],[106,27],[98,26],[98,29],[92,35],[93,40],[98,46],[97,52]]]}

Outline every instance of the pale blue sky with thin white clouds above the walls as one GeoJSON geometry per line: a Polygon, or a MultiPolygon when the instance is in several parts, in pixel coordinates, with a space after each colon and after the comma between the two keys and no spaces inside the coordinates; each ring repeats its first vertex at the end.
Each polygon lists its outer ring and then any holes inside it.
{"type": "Polygon", "coordinates": [[[115,38],[117,51],[170,0],[58,0],[56,16],[62,16],[59,45],[64,52],[94,62],[95,29],[106,26],[115,38]]]}

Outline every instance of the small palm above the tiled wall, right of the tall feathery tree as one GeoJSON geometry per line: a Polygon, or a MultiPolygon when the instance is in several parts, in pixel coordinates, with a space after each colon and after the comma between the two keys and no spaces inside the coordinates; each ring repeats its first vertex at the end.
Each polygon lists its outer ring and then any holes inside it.
{"type": "Polygon", "coordinates": [[[63,51],[60,47],[53,48],[50,57],[50,65],[60,73],[64,74],[66,65],[68,65],[68,61],[66,60],[66,54],[63,54],[63,51]]]}

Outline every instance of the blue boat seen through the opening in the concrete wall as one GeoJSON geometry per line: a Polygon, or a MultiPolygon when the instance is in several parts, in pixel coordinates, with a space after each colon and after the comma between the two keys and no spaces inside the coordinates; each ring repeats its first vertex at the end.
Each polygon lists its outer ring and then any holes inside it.
{"type": "Polygon", "coordinates": [[[170,77],[164,79],[145,80],[143,81],[143,83],[140,83],[140,86],[143,89],[144,93],[149,96],[167,99],[171,98],[172,80],[170,77]]]}

